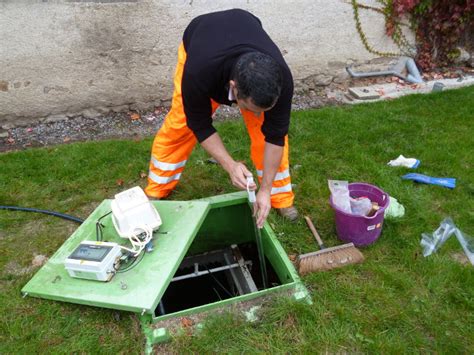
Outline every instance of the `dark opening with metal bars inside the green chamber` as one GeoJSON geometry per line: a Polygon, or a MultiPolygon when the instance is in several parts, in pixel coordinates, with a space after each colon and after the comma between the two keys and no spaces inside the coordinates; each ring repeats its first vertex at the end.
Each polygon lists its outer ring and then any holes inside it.
{"type": "MultiPolygon", "coordinates": [[[[265,258],[269,287],[281,285],[265,258]]],[[[186,257],[155,310],[162,316],[263,289],[255,243],[186,257]]]]}

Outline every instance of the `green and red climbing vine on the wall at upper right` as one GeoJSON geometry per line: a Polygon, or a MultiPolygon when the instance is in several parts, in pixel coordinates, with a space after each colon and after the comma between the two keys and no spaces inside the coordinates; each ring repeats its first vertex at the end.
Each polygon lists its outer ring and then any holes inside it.
{"type": "MultiPolygon", "coordinates": [[[[378,56],[415,57],[423,69],[450,64],[459,56],[459,45],[465,33],[474,33],[474,0],[377,0],[380,7],[351,0],[356,29],[364,47],[378,56]],[[374,49],[362,30],[359,9],[376,11],[385,17],[385,30],[400,53],[374,49]],[[402,23],[410,21],[409,25],[402,23]],[[405,37],[402,27],[409,26],[416,35],[416,46],[405,37]]],[[[472,36],[472,35],[471,35],[472,36]]]]}

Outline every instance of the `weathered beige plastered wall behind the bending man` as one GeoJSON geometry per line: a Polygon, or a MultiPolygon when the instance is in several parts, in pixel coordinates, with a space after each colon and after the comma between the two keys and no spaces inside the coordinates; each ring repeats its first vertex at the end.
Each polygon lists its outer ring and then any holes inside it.
{"type": "MultiPolygon", "coordinates": [[[[0,0],[0,126],[166,105],[186,25],[229,8],[262,20],[297,87],[342,81],[347,64],[373,59],[348,0],[0,0]]],[[[370,43],[396,51],[383,17],[360,14],[370,43]]]]}

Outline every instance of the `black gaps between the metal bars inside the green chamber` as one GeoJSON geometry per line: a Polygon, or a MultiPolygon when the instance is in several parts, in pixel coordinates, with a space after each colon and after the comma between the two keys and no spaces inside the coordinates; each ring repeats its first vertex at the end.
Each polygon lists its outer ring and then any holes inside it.
{"type": "MultiPolygon", "coordinates": [[[[248,269],[257,289],[261,290],[263,288],[263,282],[256,245],[254,243],[246,243],[240,244],[238,247],[243,259],[252,262],[252,265],[249,265],[248,269]]],[[[185,258],[185,260],[186,259],[187,258],[185,258]]],[[[281,285],[272,265],[266,258],[265,261],[268,273],[268,284],[270,287],[281,285]]],[[[184,263],[185,261],[183,261],[182,264],[184,263]]],[[[213,261],[207,264],[200,264],[199,270],[212,270],[224,265],[223,262],[213,261]]],[[[180,266],[174,277],[191,274],[193,272],[193,266],[180,266]]],[[[163,314],[174,313],[237,296],[239,296],[239,293],[229,270],[205,273],[201,276],[171,282],[161,298],[160,305],[155,310],[155,315],[161,316],[163,314]]]]}

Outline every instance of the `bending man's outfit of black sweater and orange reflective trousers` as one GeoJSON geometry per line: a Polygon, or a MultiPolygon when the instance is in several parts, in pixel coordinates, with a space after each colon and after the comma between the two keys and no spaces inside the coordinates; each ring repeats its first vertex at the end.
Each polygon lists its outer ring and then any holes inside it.
{"type": "Polygon", "coordinates": [[[283,146],[283,157],[271,191],[272,207],[293,205],[288,162],[293,79],[280,50],[258,18],[244,10],[228,10],[195,18],[186,28],[178,50],[171,109],[152,147],[146,193],[163,198],[178,184],[197,141],[216,132],[212,115],[220,104],[231,105],[229,80],[239,56],[270,55],[281,66],[282,92],[275,106],[259,116],[241,110],[251,141],[251,158],[259,181],[263,175],[265,142],[283,146]]]}

